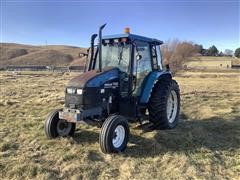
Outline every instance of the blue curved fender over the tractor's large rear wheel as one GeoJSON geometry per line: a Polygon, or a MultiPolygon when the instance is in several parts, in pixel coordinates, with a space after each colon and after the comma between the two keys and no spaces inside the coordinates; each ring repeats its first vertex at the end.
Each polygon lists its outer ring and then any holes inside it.
{"type": "Polygon", "coordinates": [[[142,93],[140,95],[140,104],[148,103],[154,85],[163,78],[168,78],[169,80],[171,80],[172,74],[169,71],[153,71],[146,78],[147,79],[143,84],[142,93]]]}

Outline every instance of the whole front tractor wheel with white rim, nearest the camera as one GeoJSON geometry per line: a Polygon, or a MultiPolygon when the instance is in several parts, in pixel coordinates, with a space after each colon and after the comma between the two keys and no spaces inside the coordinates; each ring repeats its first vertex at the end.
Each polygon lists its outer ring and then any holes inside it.
{"type": "Polygon", "coordinates": [[[108,117],[101,128],[99,143],[103,153],[124,151],[129,139],[129,126],[126,118],[120,115],[108,117]]]}

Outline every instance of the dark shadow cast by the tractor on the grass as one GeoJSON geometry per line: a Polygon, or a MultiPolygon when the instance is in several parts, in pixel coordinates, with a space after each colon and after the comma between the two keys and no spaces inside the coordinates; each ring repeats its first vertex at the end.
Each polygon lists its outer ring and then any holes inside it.
{"type": "MultiPolygon", "coordinates": [[[[155,131],[153,138],[131,134],[130,143],[124,156],[153,157],[166,152],[194,152],[201,148],[210,151],[234,150],[240,148],[240,116],[229,120],[214,117],[203,120],[189,120],[181,115],[175,129],[155,131]]],[[[141,130],[142,131],[142,130],[141,130]]],[[[96,143],[99,133],[91,130],[77,130],[74,138],[77,143],[96,143]]]]}

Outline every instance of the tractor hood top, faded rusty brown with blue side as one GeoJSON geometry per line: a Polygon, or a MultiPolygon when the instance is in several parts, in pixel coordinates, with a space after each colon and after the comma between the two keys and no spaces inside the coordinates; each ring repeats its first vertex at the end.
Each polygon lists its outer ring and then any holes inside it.
{"type": "Polygon", "coordinates": [[[100,87],[105,82],[118,78],[118,74],[118,68],[103,69],[102,72],[97,70],[87,71],[71,79],[67,87],[100,87]]]}

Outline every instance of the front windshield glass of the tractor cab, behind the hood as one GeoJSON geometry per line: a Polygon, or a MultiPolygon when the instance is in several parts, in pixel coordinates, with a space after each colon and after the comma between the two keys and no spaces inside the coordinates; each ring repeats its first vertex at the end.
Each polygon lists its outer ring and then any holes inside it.
{"type": "Polygon", "coordinates": [[[128,72],[129,59],[130,59],[129,44],[108,43],[102,45],[102,68],[118,67],[121,71],[128,72]]]}

